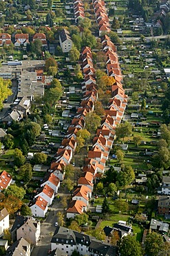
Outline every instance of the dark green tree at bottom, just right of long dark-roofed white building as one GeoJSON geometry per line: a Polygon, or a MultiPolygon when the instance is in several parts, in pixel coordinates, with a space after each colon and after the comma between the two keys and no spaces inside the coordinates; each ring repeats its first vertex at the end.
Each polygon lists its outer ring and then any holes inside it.
{"type": "Polygon", "coordinates": [[[119,253],[121,256],[142,256],[142,248],[135,237],[127,235],[118,243],[119,253]]]}

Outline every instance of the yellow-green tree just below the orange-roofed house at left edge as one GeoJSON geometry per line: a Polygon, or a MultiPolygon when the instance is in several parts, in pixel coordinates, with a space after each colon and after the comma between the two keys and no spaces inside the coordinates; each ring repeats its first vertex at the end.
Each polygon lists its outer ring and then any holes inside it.
{"type": "Polygon", "coordinates": [[[6,197],[9,195],[17,197],[18,199],[22,200],[23,196],[25,195],[24,188],[18,187],[15,183],[10,185],[6,190],[3,190],[3,194],[5,194],[6,197]]]}

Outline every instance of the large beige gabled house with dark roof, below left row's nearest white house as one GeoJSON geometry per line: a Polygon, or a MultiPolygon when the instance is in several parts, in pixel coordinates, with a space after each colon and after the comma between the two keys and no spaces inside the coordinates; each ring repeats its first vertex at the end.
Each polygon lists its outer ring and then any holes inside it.
{"type": "Polygon", "coordinates": [[[41,233],[41,223],[32,217],[17,215],[10,230],[12,241],[17,241],[21,237],[28,239],[30,244],[36,245],[41,233]]]}

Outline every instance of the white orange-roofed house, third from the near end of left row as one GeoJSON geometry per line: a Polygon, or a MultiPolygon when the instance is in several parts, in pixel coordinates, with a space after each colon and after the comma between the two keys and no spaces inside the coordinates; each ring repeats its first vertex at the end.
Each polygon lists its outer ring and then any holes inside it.
{"type": "Polygon", "coordinates": [[[54,192],[57,193],[60,188],[60,180],[55,174],[48,172],[44,176],[41,187],[45,185],[49,185],[50,188],[52,188],[54,192]]]}

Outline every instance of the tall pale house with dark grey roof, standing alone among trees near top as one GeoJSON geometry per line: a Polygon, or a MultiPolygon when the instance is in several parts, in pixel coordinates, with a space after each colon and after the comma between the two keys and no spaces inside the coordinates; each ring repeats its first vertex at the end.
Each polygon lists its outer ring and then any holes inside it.
{"type": "Polygon", "coordinates": [[[69,31],[64,28],[59,31],[59,42],[63,53],[68,53],[72,49],[72,39],[69,31]]]}

